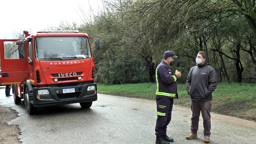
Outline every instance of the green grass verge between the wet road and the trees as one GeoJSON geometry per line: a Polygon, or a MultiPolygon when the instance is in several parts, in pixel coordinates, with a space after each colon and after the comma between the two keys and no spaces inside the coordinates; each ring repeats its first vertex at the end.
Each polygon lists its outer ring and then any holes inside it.
{"type": "MultiPolygon", "coordinates": [[[[133,98],[155,99],[155,83],[124,85],[97,84],[98,93],[133,98]]],[[[179,99],[174,104],[189,107],[190,97],[186,84],[178,84],[179,99]]],[[[218,83],[213,92],[212,110],[219,113],[232,113],[245,109],[256,109],[255,83],[218,83]]]]}

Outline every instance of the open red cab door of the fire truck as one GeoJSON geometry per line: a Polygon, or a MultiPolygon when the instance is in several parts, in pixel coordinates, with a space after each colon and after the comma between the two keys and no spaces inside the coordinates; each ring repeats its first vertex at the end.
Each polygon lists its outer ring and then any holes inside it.
{"type": "Polygon", "coordinates": [[[0,40],[2,85],[19,84],[29,77],[28,64],[19,59],[16,41],[19,39],[0,40]]]}

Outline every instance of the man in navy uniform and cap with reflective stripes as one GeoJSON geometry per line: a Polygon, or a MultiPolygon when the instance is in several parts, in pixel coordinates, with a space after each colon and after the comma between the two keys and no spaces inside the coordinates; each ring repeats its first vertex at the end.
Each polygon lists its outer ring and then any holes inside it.
{"type": "Polygon", "coordinates": [[[173,99],[178,98],[176,81],[181,76],[181,72],[173,71],[175,58],[172,51],[166,51],[163,54],[163,60],[156,68],[156,104],[157,104],[157,120],[156,120],[156,144],[169,144],[173,142],[173,138],[166,135],[166,129],[171,121],[171,113],[173,109],[173,99]]]}

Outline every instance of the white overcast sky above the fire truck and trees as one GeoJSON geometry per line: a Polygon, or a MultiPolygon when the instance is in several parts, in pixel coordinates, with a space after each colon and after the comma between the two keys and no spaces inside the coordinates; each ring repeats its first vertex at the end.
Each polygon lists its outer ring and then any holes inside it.
{"type": "Polygon", "coordinates": [[[1,0],[0,39],[13,39],[13,33],[36,32],[64,22],[82,24],[80,17],[91,9],[98,13],[102,0],[1,0]]]}

